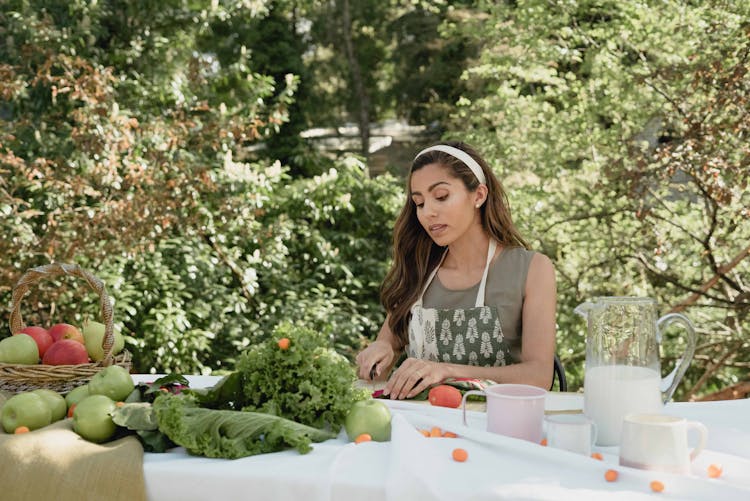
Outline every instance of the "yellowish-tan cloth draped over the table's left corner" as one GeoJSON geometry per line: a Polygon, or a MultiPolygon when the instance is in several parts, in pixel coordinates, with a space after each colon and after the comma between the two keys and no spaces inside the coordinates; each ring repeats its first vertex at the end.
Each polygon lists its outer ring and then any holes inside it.
{"type": "Polygon", "coordinates": [[[132,436],[88,442],[71,419],[19,435],[0,428],[0,489],[5,501],[145,501],[143,448],[132,436]]]}

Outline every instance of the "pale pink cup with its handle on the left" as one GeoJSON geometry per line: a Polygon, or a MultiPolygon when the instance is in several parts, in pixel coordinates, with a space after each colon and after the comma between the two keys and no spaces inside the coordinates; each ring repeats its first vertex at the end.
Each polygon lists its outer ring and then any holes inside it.
{"type": "Polygon", "coordinates": [[[469,395],[487,397],[487,431],[541,442],[546,390],[526,384],[496,384],[484,390],[467,391],[461,401],[465,426],[466,397],[469,395]]]}

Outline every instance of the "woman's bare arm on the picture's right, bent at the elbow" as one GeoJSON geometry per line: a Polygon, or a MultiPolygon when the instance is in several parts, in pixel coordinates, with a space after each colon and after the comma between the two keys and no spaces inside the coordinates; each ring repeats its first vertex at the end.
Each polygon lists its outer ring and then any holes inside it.
{"type": "Polygon", "coordinates": [[[552,385],[555,358],[555,268],[545,255],[536,253],[529,264],[521,318],[521,361],[503,367],[477,367],[407,358],[386,384],[391,398],[412,398],[428,386],[449,377],[489,379],[498,383],[522,383],[548,389],[552,385]]]}

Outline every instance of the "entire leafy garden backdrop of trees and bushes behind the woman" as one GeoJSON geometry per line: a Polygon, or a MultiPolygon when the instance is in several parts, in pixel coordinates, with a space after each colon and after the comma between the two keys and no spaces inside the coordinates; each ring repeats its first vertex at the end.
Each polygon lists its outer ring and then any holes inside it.
{"type": "MultiPolygon", "coordinates": [[[[376,168],[371,125],[402,120],[411,154],[477,146],[555,262],[572,389],[597,295],[693,320],[678,398],[750,388],[747,2],[9,0],[0,39],[0,301],[84,266],[139,372],[220,372],[287,320],[352,359],[408,162],[376,168]],[[350,151],[302,133],[344,125],[350,151]]],[[[58,280],[22,309],[96,301],[58,280]]]]}

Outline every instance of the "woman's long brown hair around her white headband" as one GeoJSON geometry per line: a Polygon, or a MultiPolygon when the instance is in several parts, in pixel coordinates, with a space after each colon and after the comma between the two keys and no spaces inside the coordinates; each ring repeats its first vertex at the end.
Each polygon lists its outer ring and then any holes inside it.
{"type": "MultiPolygon", "coordinates": [[[[440,144],[465,151],[482,167],[487,179],[487,200],[480,209],[484,231],[505,247],[528,248],[510,217],[508,197],[487,162],[466,143],[448,141],[440,144]]],[[[445,250],[433,242],[422,228],[417,219],[416,205],[411,199],[412,175],[429,164],[448,168],[470,192],[479,186],[479,180],[471,169],[448,153],[429,151],[412,162],[406,179],[406,202],[393,228],[393,264],[380,287],[380,299],[390,315],[388,325],[402,348],[409,342],[411,307],[422,292],[429,272],[437,266],[445,250]]]]}

